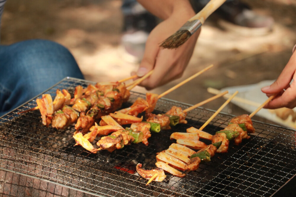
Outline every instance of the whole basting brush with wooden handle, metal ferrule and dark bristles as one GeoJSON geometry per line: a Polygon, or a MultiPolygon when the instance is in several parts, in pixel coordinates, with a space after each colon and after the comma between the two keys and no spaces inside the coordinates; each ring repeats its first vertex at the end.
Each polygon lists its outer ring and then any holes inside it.
{"type": "Polygon", "coordinates": [[[175,49],[184,44],[192,34],[194,34],[204,24],[216,9],[218,9],[226,0],[211,0],[194,17],[189,19],[178,31],[165,39],[161,47],[165,49],[175,49]]]}

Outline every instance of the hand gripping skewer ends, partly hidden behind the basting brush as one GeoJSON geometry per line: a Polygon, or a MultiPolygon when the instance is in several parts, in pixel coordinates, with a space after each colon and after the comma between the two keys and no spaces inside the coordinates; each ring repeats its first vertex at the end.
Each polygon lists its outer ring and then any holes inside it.
{"type": "Polygon", "coordinates": [[[162,49],[160,43],[175,33],[194,14],[193,10],[186,12],[178,10],[152,30],[147,39],[144,57],[139,69],[132,75],[137,74],[141,77],[152,69],[154,71],[139,85],[150,90],[182,76],[192,56],[200,30],[177,49],[162,49]]]}

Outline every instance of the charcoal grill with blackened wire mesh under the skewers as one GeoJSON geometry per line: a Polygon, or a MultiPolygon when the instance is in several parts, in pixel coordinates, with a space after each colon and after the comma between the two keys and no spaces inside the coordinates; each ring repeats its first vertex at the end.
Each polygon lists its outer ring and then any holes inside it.
{"type": "MultiPolygon", "coordinates": [[[[45,93],[55,96],[57,88],[73,92],[75,86],[86,87],[89,83],[67,77],[45,93]]],[[[131,105],[137,97],[145,95],[132,92],[125,105],[131,105]]],[[[188,124],[153,133],[149,146],[132,144],[112,153],[91,154],[80,146],[73,146],[73,126],[62,131],[45,127],[38,110],[17,114],[36,106],[36,98],[0,118],[0,190],[8,196],[20,196],[17,187],[25,188],[24,195],[33,196],[45,193],[59,196],[271,196],[296,174],[295,131],[254,121],[256,133],[239,146],[230,144],[228,153],[215,154],[211,162],[201,164],[197,171],[183,178],[167,175],[163,182],[145,186],[147,180],[135,172],[136,164],[142,163],[149,169],[155,167],[156,153],[174,142],[170,140],[171,133],[186,132],[191,126],[199,128],[214,111],[202,108],[190,111],[188,124]]],[[[166,112],[173,105],[182,109],[190,106],[160,99],[155,113],[166,112]]],[[[229,114],[220,113],[204,130],[214,134],[226,127],[231,118],[229,114]]]]}

